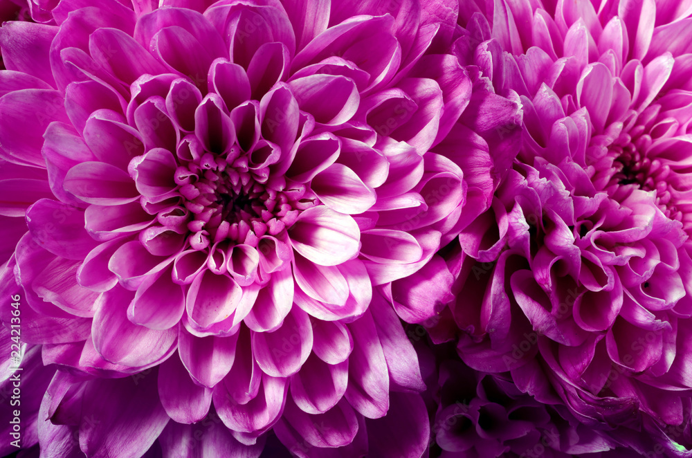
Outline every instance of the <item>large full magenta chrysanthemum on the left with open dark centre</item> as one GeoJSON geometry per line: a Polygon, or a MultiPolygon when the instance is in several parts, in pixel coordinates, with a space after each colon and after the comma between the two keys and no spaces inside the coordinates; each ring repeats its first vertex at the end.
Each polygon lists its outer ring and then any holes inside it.
{"type": "Polygon", "coordinates": [[[301,457],[420,456],[399,316],[438,306],[435,253],[520,122],[445,53],[455,8],[55,3],[0,28],[2,294],[60,367],[42,448],[187,456],[211,421],[212,455],[273,428],[301,457]]]}

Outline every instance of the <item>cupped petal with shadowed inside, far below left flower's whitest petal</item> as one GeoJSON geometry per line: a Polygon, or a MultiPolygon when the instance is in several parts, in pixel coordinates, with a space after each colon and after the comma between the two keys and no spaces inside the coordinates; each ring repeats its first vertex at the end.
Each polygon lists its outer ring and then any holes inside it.
{"type": "Polygon", "coordinates": [[[347,361],[330,365],[310,355],[291,378],[291,397],[303,412],[322,414],[340,401],[347,385],[347,361]]]}

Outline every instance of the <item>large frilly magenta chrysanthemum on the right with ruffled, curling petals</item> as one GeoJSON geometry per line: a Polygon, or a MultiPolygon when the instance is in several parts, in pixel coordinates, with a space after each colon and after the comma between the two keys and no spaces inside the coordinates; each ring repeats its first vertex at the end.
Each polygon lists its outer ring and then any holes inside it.
{"type": "Polygon", "coordinates": [[[464,5],[462,24],[495,37],[465,55],[524,116],[491,210],[448,253],[459,354],[586,423],[681,425],[666,448],[689,448],[689,8],[464,5]]]}

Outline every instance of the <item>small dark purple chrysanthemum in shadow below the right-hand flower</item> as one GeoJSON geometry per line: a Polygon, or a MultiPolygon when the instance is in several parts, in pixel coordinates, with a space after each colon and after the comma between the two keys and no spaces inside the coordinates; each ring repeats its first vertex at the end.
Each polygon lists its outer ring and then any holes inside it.
{"type": "MultiPolygon", "coordinates": [[[[511,375],[475,371],[459,360],[453,342],[418,340],[431,410],[430,457],[641,457],[629,437],[584,425],[563,405],[536,401],[511,375]]],[[[653,450],[653,441],[646,443],[653,450]]]]}

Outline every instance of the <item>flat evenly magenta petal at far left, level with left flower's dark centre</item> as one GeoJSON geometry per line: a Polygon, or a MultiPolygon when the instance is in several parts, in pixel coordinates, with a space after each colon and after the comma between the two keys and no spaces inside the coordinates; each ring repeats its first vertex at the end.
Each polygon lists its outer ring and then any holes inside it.
{"type": "Polygon", "coordinates": [[[97,245],[84,229],[84,212],[60,202],[37,201],[26,212],[26,223],[33,238],[60,257],[84,259],[97,245]]]}

